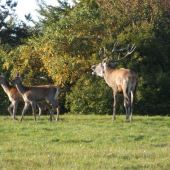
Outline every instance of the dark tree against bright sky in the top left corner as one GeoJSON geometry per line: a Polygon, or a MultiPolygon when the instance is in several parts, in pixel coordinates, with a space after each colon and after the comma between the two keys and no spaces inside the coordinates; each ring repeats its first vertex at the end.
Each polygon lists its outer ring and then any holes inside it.
{"type": "MultiPolygon", "coordinates": [[[[7,0],[0,5],[0,44],[15,47],[23,44],[32,35],[33,29],[25,22],[18,20],[15,14],[17,2],[7,0]]],[[[26,18],[30,20],[30,15],[26,18]]]]}

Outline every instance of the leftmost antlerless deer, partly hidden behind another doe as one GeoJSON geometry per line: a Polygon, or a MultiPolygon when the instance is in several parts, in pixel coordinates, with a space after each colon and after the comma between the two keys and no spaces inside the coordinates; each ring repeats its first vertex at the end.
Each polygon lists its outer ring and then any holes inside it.
{"type": "MultiPolygon", "coordinates": [[[[18,108],[18,104],[24,102],[22,95],[18,92],[16,87],[11,86],[6,80],[7,73],[2,73],[0,76],[0,84],[4,89],[5,93],[8,95],[9,100],[11,101],[10,106],[8,107],[8,111],[13,119],[17,119],[16,112],[18,108]],[[12,110],[13,109],[13,110],[12,110]]],[[[50,105],[44,100],[37,103],[39,108],[39,117],[42,114],[42,110],[46,107],[49,111],[51,110],[50,105]]]]}

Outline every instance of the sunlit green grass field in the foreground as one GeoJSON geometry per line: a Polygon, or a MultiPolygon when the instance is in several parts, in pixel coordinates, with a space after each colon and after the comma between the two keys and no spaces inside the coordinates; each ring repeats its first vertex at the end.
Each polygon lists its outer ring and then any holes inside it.
{"type": "MultiPolygon", "coordinates": [[[[19,118],[20,116],[18,116],[19,118]]],[[[61,115],[50,122],[0,116],[0,169],[100,170],[170,167],[170,118],[61,115]]]]}

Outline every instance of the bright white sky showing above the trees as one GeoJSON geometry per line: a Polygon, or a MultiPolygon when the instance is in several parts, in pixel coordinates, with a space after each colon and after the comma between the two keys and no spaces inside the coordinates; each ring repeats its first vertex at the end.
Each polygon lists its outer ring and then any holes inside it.
{"type": "MultiPolygon", "coordinates": [[[[37,9],[36,0],[15,0],[18,1],[18,5],[16,7],[16,14],[20,20],[25,21],[25,14],[31,13],[34,20],[38,21],[37,13],[35,9],[37,9]]],[[[44,0],[47,5],[57,6],[57,0],[44,0]]],[[[73,4],[72,0],[67,0],[71,5],[73,4]]],[[[5,4],[6,0],[0,0],[1,4],[5,4]]]]}

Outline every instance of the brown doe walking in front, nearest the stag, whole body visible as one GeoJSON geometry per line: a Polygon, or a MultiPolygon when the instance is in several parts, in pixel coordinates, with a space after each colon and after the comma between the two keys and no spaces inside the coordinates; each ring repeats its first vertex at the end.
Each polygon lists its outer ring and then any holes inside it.
{"type": "Polygon", "coordinates": [[[36,121],[36,102],[42,100],[48,100],[53,105],[53,110],[50,111],[50,120],[54,117],[54,112],[57,109],[57,118],[59,120],[59,104],[56,98],[59,95],[59,88],[52,85],[42,85],[42,86],[24,86],[21,82],[21,77],[19,74],[10,82],[11,85],[15,84],[17,90],[22,95],[25,106],[22,111],[20,122],[23,119],[25,112],[27,111],[29,105],[32,106],[32,111],[34,114],[34,121],[36,121]]]}

